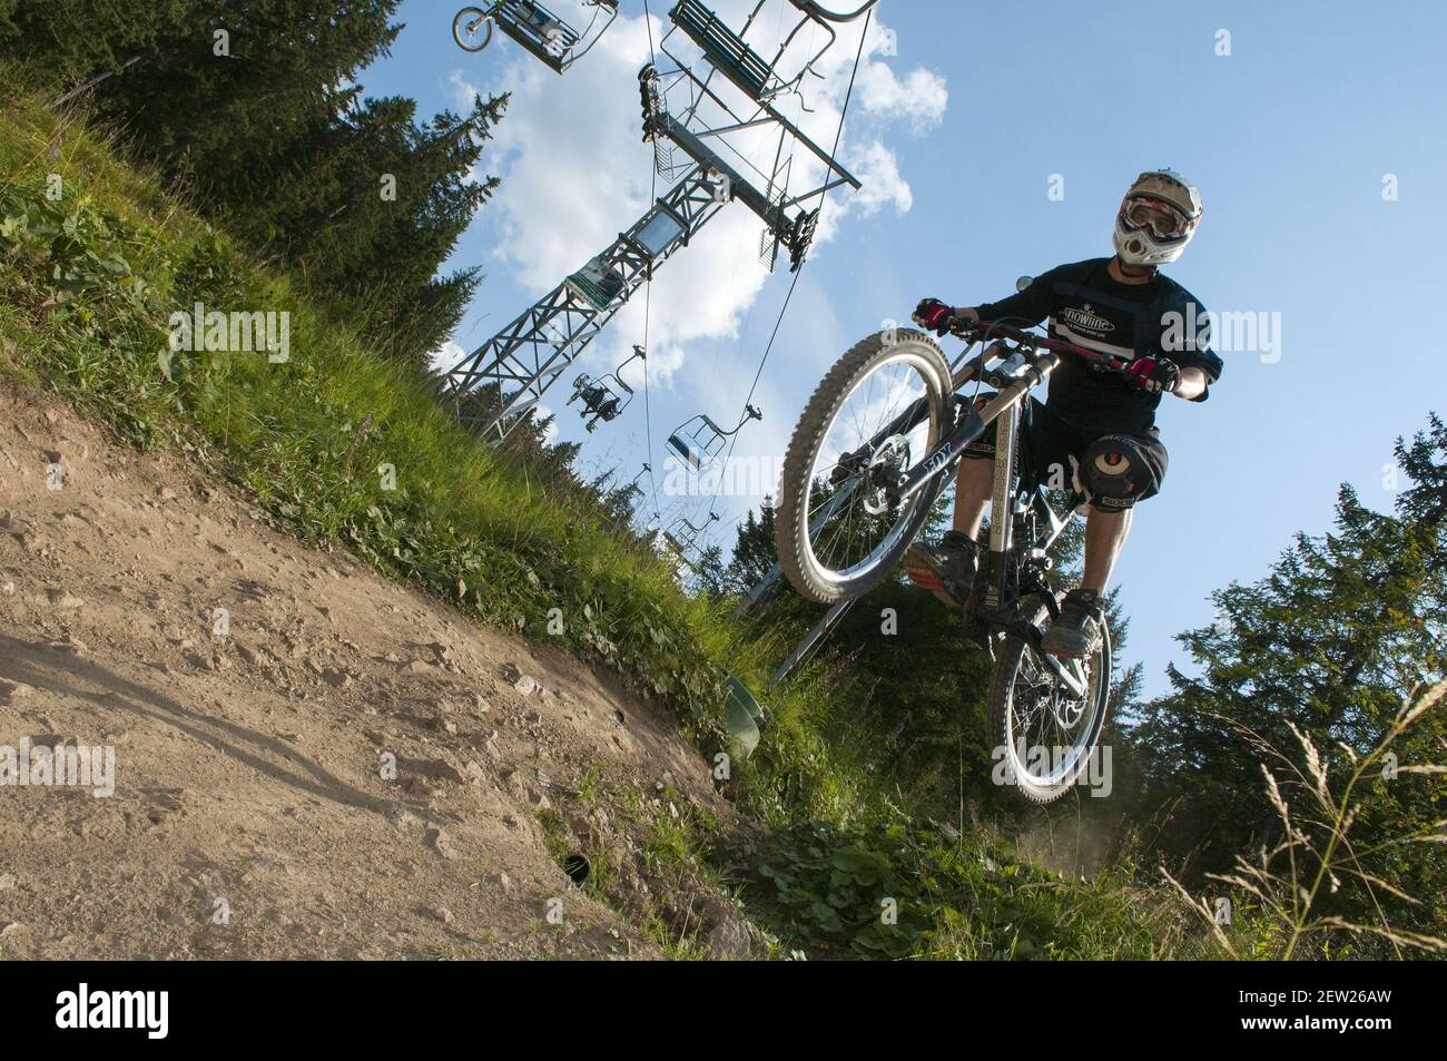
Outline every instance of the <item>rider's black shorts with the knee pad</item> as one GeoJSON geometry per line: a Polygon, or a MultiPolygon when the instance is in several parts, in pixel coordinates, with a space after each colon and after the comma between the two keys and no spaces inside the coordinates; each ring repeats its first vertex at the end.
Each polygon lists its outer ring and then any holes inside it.
{"type": "MultiPolygon", "coordinates": [[[[977,404],[993,397],[981,395],[977,404]]],[[[1051,489],[1079,489],[1094,508],[1106,512],[1132,508],[1160,492],[1169,455],[1155,427],[1145,431],[1081,430],[1036,398],[1030,398],[1023,413],[1020,468],[1027,481],[1051,489]]],[[[994,455],[996,427],[990,424],[965,447],[965,456],[993,460],[994,455]]]]}

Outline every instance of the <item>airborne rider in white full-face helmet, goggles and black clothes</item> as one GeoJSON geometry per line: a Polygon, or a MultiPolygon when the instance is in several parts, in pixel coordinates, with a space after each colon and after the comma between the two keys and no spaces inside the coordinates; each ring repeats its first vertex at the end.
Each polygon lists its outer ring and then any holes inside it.
{"type": "MultiPolygon", "coordinates": [[[[1116,214],[1116,255],[1062,265],[1024,291],[974,308],[926,298],[915,320],[943,336],[958,318],[1039,324],[1051,336],[1129,362],[1124,376],[1066,356],[1042,404],[1030,400],[1026,444],[1048,485],[1074,483],[1090,498],[1085,569],[1066,593],[1043,650],[1085,657],[1095,651],[1104,592],[1130,533],[1137,501],[1160,489],[1166,449],[1155,427],[1160,395],[1205,401],[1221,375],[1210,350],[1205,310],[1158,266],[1181,256],[1201,220],[1201,195],[1169,169],[1142,174],[1116,214]]],[[[994,427],[965,450],[955,491],[954,530],[936,546],[904,554],[910,580],[952,608],[964,606],[978,567],[977,538],[994,476],[994,427]]]]}

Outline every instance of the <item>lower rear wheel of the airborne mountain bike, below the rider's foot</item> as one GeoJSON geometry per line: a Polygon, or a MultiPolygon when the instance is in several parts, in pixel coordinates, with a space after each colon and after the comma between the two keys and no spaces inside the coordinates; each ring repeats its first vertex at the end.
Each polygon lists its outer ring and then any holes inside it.
{"type": "MultiPolygon", "coordinates": [[[[1023,612],[1035,625],[1049,617],[1040,596],[1027,598],[1023,612]]],[[[996,767],[1003,767],[1003,782],[1030,803],[1043,806],[1064,796],[1098,754],[1110,705],[1111,648],[1104,624],[1100,648],[1084,669],[1085,695],[1072,698],[1024,638],[1007,634],[996,644],[988,696],[990,732],[998,741],[996,767]]]]}

